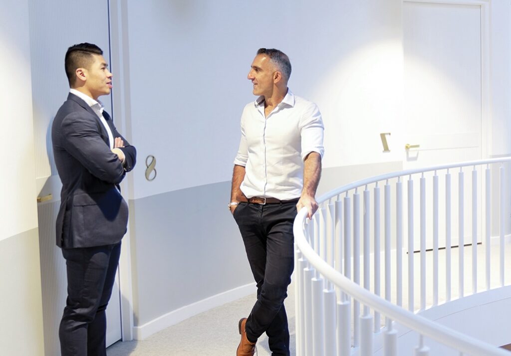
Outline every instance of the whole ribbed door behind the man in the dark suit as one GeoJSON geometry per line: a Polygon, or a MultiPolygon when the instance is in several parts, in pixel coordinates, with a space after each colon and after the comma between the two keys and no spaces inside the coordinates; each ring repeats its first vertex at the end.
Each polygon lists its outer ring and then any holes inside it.
{"type": "MultiPolygon", "coordinates": [[[[34,146],[45,354],[58,355],[58,327],[66,297],[65,263],[55,245],[55,219],[60,205],[61,183],[53,160],[51,123],[65,101],[69,85],[64,72],[67,48],[81,42],[95,43],[109,61],[108,2],[29,1],[34,146]]],[[[103,97],[111,112],[111,98],[103,97]]],[[[121,339],[118,280],[107,308],[107,343],[121,339]]]]}

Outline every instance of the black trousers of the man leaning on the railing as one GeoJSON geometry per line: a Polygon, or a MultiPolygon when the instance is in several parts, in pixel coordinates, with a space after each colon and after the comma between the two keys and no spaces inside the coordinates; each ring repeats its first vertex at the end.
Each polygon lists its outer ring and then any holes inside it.
{"type": "Polygon", "coordinates": [[[257,301],[246,322],[247,338],[268,335],[272,355],[289,355],[289,328],[284,307],[294,268],[293,222],[296,201],[283,204],[240,203],[234,217],[245,244],[257,301]]]}

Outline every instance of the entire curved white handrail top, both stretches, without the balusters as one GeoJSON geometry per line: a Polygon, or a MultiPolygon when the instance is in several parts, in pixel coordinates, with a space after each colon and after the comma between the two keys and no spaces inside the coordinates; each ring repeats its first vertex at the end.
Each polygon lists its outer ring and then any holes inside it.
{"type": "MultiPolygon", "coordinates": [[[[320,196],[317,202],[320,204],[334,196],[350,191],[351,189],[364,186],[387,179],[407,176],[416,173],[431,172],[437,170],[445,170],[450,168],[461,168],[470,165],[482,165],[491,163],[502,163],[511,161],[511,157],[504,158],[493,158],[486,160],[468,161],[462,163],[452,163],[437,165],[435,167],[417,168],[400,172],[393,172],[383,174],[380,176],[374,176],[366,179],[361,179],[356,182],[343,185],[339,188],[333,189],[332,191],[320,196]]],[[[483,342],[481,340],[473,339],[467,335],[460,333],[459,331],[453,330],[444,325],[435,323],[429,319],[426,319],[420,315],[416,315],[410,311],[403,309],[391,302],[377,296],[359,284],[353,282],[349,278],[345,277],[339,271],[336,271],[326,261],[324,261],[309,245],[305,238],[304,226],[305,219],[307,217],[307,209],[304,207],[298,212],[294,225],[293,232],[295,243],[301,253],[307,258],[309,263],[316,268],[316,270],[323,276],[332,281],[337,287],[341,288],[344,293],[354,297],[363,304],[375,311],[378,311],[390,319],[399,322],[402,325],[409,327],[412,330],[419,332],[420,334],[436,340],[444,345],[450,346],[461,352],[468,354],[485,354],[491,356],[507,356],[508,351],[496,348],[494,345],[483,342]]]]}

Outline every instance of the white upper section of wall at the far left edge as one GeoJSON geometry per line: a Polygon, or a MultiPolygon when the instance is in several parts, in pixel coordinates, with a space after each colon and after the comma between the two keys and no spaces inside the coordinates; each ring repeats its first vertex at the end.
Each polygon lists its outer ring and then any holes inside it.
{"type": "Polygon", "coordinates": [[[37,227],[28,4],[7,1],[0,14],[0,240],[37,227]],[[14,185],[14,186],[13,186],[14,185]]]}

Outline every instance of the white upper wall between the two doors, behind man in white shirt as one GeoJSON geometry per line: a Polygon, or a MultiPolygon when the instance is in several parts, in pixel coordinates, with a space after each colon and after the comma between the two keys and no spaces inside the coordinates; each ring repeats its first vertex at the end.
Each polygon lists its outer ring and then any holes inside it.
{"type": "Polygon", "coordinates": [[[379,133],[400,127],[400,3],[129,1],[132,134],[142,163],[134,198],[230,179],[260,47],[288,54],[291,90],[318,103],[325,167],[395,160],[382,154],[379,133]],[[143,174],[149,154],[153,182],[143,174]]]}

